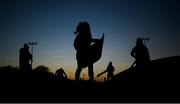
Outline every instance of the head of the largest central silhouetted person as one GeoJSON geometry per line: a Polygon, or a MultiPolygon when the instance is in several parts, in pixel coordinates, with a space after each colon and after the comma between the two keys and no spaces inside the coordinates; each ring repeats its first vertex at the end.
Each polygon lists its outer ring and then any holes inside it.
{"type": "Polygon", "coordinates": [[[74,32],[74,34],[76,35],[78,33],[90,33],[89,23],[86,21],[79,22],[78,26],[76,27],[76,31],[74,32]]]}

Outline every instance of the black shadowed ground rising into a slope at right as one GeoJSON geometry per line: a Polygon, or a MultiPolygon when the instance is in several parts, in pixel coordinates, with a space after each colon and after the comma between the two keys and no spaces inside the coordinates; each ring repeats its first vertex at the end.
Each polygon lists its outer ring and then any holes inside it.
{"type": "Polygon", "coordinates": [[[180,102],[180,57],[127,69],[106,83],[59,80],[41,72],[1,70],[0,102],[180,102]]]}

